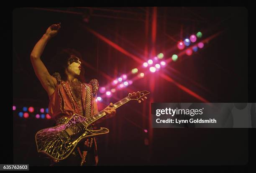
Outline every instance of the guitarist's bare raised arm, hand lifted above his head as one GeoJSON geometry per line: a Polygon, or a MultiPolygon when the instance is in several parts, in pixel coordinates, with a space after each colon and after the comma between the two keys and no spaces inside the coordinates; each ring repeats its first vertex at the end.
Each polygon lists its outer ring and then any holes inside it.
{"type": "Polygon", "coordinates": [[[41,61],[41,55],[44,51],[46,43],[59,32],[61,28],[60,23],[51,25],[42,38],[36,43],[33,51],[30,54],[31,63],[33,69],[36,73],[36,76],[40,80],[42,86],[50,96],[54,93],[57,81],[56,79],[49,74],[49,71],[46,69],[46,66],[41,61]]]}

